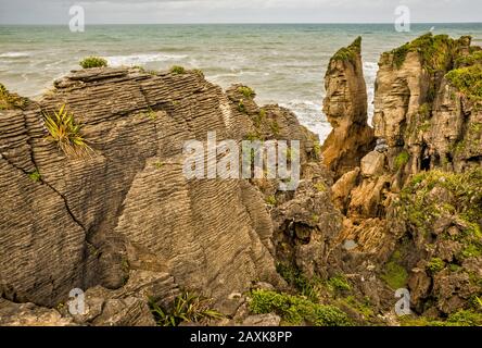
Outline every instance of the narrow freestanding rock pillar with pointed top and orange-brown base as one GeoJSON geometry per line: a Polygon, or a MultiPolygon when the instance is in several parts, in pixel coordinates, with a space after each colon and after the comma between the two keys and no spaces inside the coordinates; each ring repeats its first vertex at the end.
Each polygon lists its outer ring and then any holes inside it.
{"type": "Polygon", "coordinates": [[[359,165],[373,149],[373,130],[367,124],[367,87],[365,84],[362,38],[340,49],[330,60],[325,76],[324,113],[333,130],[322,146],[325,164],[339,178],[359,165]]]}

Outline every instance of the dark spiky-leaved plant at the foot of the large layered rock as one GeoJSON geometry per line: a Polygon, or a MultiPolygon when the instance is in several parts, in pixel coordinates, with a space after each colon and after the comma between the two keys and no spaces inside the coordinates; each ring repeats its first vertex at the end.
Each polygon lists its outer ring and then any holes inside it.
{"type": "Polygon", "coordinates": [[[149,303],[158,326],[178,326],[182,322],[203,323],[221,319],[223,315],[211,309],[210,304],[210,299],[186,291],[176,297],[169,310],[162,309],[152,300],[149,303]]]}

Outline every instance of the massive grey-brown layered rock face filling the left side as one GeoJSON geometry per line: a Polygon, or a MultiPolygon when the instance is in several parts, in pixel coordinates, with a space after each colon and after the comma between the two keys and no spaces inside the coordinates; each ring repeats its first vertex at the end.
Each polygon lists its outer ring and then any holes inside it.
{"type": "MultiPolygon", "coordinates": [[[[257,107],[244,86],[225,94],[199,72],[89,69],[54,86],[39,102],[0,111],[2,298],[43,310],[80,288],[92,311],[75,323],[148,325],[148,298],[168,306],[179,287],[229,314],[230,296],[254,279],[286,286],[266,201],[288,204],[293,192],[276,179],[188,179],[182,147],[208,132],[218,141],[295,139],[302,178],[322,182],[317,137],[292,112],[257,107]],[[88,157],[66,157],[46,140],[43,117],[62,105],[83,124],[88,157]]],[[[320,228],[315,235],[312,249],[325,238],[320,228]]]]}

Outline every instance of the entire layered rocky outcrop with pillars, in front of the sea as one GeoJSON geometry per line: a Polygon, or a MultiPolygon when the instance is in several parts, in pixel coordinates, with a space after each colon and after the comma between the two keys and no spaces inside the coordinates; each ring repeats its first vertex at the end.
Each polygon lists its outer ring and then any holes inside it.
{"type": "Polygon", "coordinates": [[[289,110],[198,71],[76,71],[38,102],[1,88],[0,324],[155,325],[188,289],[226,315],[213,325],[393,325],[399,288],[421,323],[482,322],[482,50],[426,35],[384,53],[375,139],[359,45],[330,61],[322,153],[289,110]],[[84,157],[46,139],[62,105],[84,157]],[[296,189],[188,179],[182,146],[207,132],[300,140],[296,189]]]}

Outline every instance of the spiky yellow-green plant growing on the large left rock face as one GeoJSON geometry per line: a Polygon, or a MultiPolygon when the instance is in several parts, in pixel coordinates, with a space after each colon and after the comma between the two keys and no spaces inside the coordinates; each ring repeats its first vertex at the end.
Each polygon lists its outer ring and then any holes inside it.
{"type": "Polygon", "coordinates": [[[85,157],[92,148],[81,134],[81,125],[74,120],[74,114],[65,109],[65,104],[54,112],[53,116],[43,113],[43,121],[49,136],[48,141],[55,142],[67,157],[85,157]]]}

